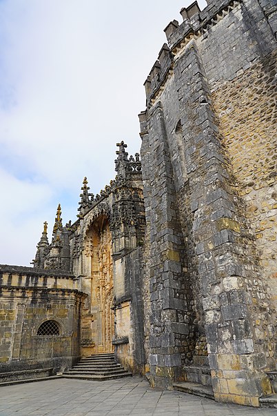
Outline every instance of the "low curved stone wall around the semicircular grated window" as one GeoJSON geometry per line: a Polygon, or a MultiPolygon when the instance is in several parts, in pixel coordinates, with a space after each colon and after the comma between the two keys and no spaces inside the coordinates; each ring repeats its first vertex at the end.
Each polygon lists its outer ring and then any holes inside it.
{"type": "Polygon", "coordinates": [[[71,368],[80,358],[80,318],[85,295],[72,275],[0,266],[0,373],[71,368]],[[59,335],[38,335],[54,321],[59,335]]]}

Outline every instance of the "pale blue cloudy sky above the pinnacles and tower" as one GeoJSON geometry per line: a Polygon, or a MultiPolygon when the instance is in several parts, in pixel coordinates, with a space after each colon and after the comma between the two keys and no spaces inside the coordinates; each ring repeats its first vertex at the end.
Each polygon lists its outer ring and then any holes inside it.
{"type": "Polygon", "coordinates": [[[83,177],[94,194],[114,179],[116,142],[139,150],[143,82],[190,3],[0,0],[0,264],[29,265],[59,202],[75,221],[83,177]]]}

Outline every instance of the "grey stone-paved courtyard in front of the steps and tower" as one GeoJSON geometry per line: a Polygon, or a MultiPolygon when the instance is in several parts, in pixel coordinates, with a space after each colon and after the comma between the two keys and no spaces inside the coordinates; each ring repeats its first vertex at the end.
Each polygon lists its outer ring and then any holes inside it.
{"type": "Polygon", "coordinates": [[[274,409],[218,404],[175,391],[153,390],[140,377],[90,382],[52,379],[0,387],[1,416],[273,416],[274,409]]]}

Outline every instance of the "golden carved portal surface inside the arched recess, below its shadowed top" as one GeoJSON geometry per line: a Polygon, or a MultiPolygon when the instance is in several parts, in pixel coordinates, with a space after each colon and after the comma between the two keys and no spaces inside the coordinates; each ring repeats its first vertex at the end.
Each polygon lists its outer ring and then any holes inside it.
{"type": "Polygon", "coordinates": [[[85,255],[91,268],[92,353],[114,350],[114,286],[112,277],[112,235],[105,216],[96,219],[85,239],[85,255]]]}

